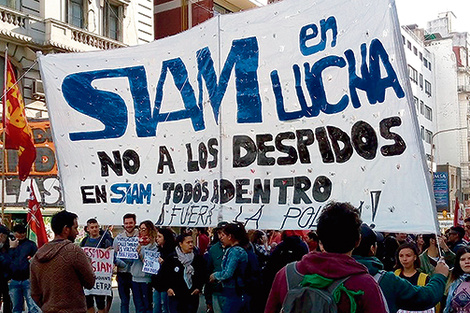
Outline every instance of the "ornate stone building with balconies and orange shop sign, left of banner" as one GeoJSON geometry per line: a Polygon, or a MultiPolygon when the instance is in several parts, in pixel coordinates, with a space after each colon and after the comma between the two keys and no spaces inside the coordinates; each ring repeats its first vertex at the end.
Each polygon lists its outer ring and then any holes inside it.
{"type": "MultiPolygon", "coordinates": [[[[5,52],[16,76],[33,128],[37,158],[30,178],[17,177],[17,153],[8,151],[6,223],[24,218],[30,179],[46,215],[63,207],[37,53],[116,49],[154,39],[152,0],[0,0],[0,67],[5,52]]],[[[3,73],[3,71],[2,71],[3,73]]],[[[4,75],[0,75],[3,86],[4,75]]],[[[3,89],[3,88],[2,88],[3,89]]]]}

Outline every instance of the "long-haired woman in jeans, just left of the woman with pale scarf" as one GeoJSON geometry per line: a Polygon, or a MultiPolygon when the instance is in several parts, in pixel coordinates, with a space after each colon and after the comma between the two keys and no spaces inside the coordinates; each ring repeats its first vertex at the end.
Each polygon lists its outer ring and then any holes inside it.
{"type": "MultiPolygon", "coordinates": [[[[160,252],[159,262],[162,264],[170,257],[175,256],[176,243],[173,231],[170,228],[159,228],[157,233],[157,245],[160,252]]],[[[153,291],[153,313],[168,313],[168,293],[162,281],[161,271],[152,275],[153,291]]]]}

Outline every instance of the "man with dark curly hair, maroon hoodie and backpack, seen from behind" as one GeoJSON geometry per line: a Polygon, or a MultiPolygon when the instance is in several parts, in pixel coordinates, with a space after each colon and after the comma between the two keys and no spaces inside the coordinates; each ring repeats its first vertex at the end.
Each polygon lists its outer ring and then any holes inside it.
{"type": "Polygon", "coordinates": [[[361,224],[359,211],[351,204],[328,203],[317,226],[326,252],[312,251],[283,267],[276,274],[264,312],[306,312],[305,308],[310,312],[386,312],[374,278],[351,257],[360,242],[361,224]]]}

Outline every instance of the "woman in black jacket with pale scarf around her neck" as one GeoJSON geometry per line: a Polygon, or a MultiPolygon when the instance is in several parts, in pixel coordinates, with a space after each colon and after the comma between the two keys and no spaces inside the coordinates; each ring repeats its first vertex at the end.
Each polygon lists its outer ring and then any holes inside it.
{"type": "Polygon", "coordinates": [[[206,282],[204,258],[194,251],[191,233],[176,238],[176,253],[167,257],[160,269],[169,297],[170,313],[196,313],[199,294],[206,282]]]}

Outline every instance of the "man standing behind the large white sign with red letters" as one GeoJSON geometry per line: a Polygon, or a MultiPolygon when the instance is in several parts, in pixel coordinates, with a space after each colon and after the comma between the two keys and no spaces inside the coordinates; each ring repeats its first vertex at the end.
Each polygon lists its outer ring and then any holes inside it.
{"type": "MultiPolygon", "coordinates": [[[[86,231],[88,235],[83,238],[80,243],[80,247],[91,247],[91,248],[101,248],[106,249],[112,247],[113,242],[109,236],[100,235],[100,225],[95,218],[90,218],[86,222],[86,231]]],[[[96,271],[96,270],[95,270],[96,271]]],[[[109,289],[111,291],[111,288],[109,289]]],[[[93,293],[93,290],[90,292],[85,291],[85,298],[87,303],[88,313],[95,313],[95,302],[96,307],[98,308],[98,313],[105,313],[106,307],[106,296],[101,292],[99,294],[93,293]]]]}

